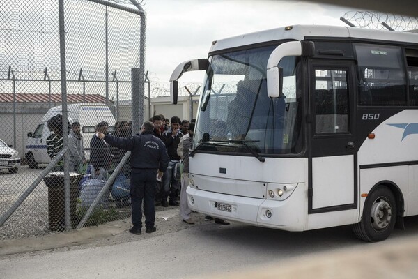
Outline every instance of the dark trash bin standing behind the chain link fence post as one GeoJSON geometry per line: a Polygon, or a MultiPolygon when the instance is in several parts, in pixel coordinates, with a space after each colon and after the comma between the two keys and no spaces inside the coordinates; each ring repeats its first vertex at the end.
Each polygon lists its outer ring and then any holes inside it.
{"type": "MultiPolygon", "coordinates": [[[[70,172],[70,212],[71,224],[77,225],[77,197],[79,181],[83,174],[70,172]]],[[[65,190],[64,173],[51,172],[43,179],[48,188],[48,227],[52,231],[65,230],[65,190]]]]}

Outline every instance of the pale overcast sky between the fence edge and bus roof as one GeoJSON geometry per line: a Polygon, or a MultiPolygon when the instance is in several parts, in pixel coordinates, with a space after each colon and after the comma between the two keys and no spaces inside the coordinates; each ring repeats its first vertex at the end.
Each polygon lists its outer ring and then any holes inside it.
{"type": "MultiPolygon", "coordinates": [[[[147,0],[146,70],[169,82],[178,63],[206,58],[213,40],[295,24],[344,26],[354,8],[295,0],[147,0]]],[[[201,82],[187,73],[181,82],[201,82]]]]}

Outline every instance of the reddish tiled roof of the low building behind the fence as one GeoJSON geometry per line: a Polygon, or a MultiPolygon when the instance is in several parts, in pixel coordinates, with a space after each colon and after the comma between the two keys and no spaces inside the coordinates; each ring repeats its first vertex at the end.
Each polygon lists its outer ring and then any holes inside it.
{"type": "MultiPolygon", "coordinates": [[[[17,93],[16,103],[48,103],[48,94],[17,93]]],[[[61,103],[61,94],[51,94],[52,103],[61,103]]],[[[99,94],[68,94],[68,103],[113,103],[99,94]]],[[[13,93],[0,93],[0,103],[13,103],[13,93]]]]}

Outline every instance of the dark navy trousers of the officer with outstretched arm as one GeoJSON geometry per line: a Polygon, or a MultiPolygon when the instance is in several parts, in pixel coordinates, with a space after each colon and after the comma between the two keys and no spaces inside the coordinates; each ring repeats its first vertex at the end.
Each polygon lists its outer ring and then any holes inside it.
{"type": "Polygon", "coordinates": [[[130,196],[132,204],[132,225],[142,227],[142,199],[144,199],[145,227],[155,223],[155,184],[157,169],[132,169],[130,196]]]}

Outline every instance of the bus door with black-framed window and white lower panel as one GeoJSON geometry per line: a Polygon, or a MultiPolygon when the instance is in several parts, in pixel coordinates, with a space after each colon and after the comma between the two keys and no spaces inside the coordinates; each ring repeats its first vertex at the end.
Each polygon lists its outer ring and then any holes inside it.
{"type": "Polygon", "coordinates": [[[357,208],[354,69],[309,61],[309,213],[357,208]]]}

